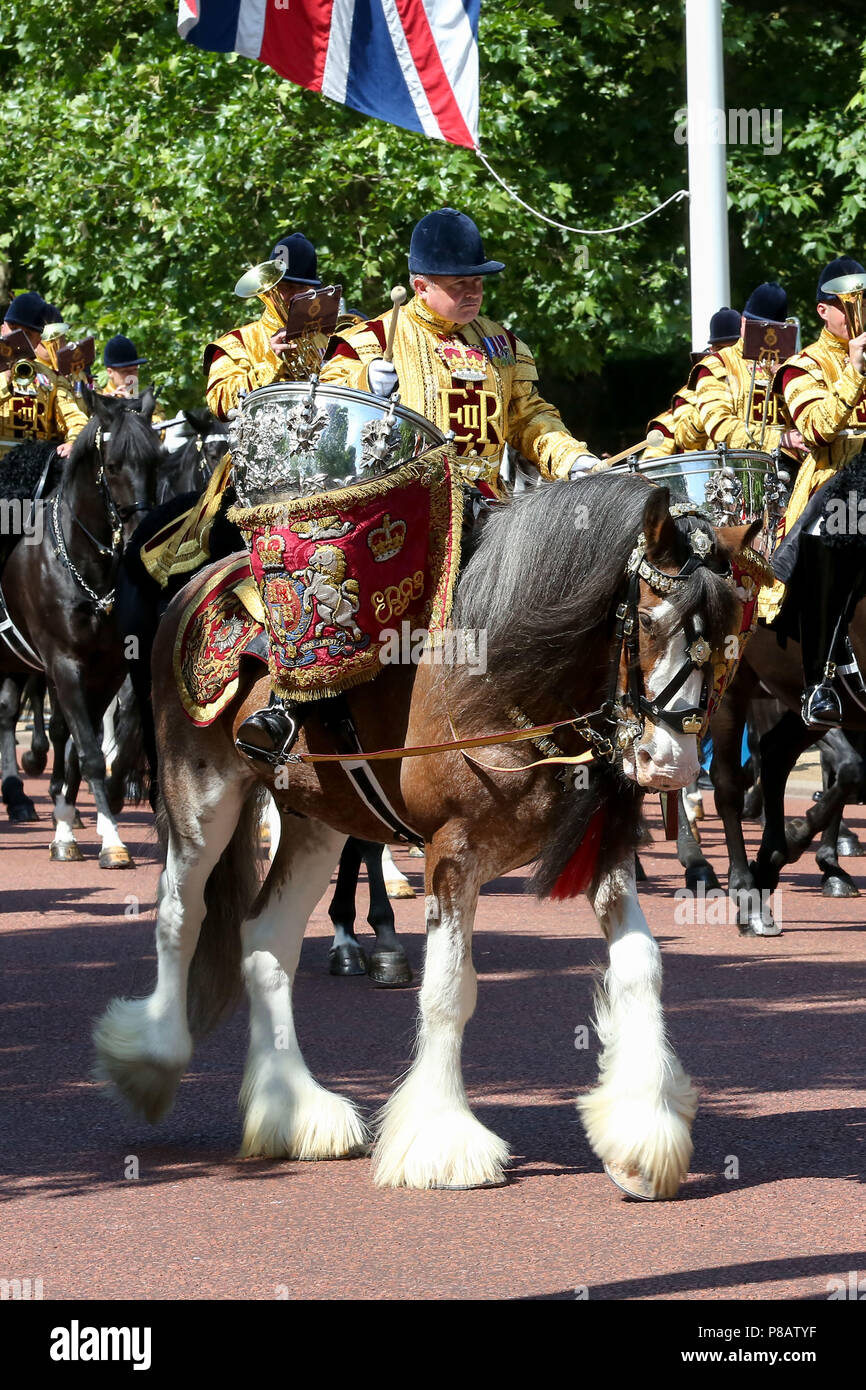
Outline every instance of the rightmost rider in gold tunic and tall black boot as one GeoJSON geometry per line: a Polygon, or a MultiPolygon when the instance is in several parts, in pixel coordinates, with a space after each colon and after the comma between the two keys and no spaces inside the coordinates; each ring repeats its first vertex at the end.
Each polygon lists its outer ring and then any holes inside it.
{"type": "Polygon", "coordinates": [[[859,677],[862,688],[847,628],[866,573],[860,520],[866,509],[865,295],[866,271],[859,261],[849,256],[830,261],[817,281],[820,336],[783,364],[776,382],[809,452],[784,516],[785,539],[773,556],[781,582],[765,591],[762,609],[767,621],[778,619],[780,635],[801,642],[801,713],[809,728],[834,728],[842,721],[837,671],[859,677]],[[783,607],[785,585],[791,592],[783,607]]]}

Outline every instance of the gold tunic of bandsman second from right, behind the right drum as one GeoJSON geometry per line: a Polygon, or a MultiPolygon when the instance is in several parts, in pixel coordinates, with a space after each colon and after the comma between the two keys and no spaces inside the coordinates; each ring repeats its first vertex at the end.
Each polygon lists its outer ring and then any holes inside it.
{"type": "Polygon", "coordinates": [[[730,449],[763,449],[770,453],[778,446],[783,432],[791,428],[784,402],[773,392],[773,373],[766,363],[742,356],[742,338],[730,348],[708,353],[692,368],[688,385],[695,392],[710,446],[726,443],[730,449]],[[765,402],[766,430],[762,434],[765,402]]]}

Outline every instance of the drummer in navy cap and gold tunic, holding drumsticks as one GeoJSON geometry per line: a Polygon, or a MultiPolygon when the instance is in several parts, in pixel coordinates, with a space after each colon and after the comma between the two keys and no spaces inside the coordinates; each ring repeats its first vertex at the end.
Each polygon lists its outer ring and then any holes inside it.
{"type": "Polygon", "coordinates": [[[488,260],[471,217],[453,207],[428,213],[409,246],[414,297],[399,314],[393,361],[385,360],[391,309],[335,334],[322,382],[400,402],[453,431],[464,481],[503,496],[499,464],[513,445],[545,478],[573,478],[599,460],[539,395],[530,349],[510,329],[482,317],[484,282],[505,270],[488,260]]]}

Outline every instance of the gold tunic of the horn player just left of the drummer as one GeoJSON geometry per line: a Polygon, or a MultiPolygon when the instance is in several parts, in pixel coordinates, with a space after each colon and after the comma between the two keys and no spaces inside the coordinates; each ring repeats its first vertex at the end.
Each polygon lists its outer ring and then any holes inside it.
{"type": "Polygon", "coordinates": [[[285,353],[275,353],[271,338],[282,328],[282,321],[271,304],[265,304],[261,318],[243,328],[217,338],[204,349],[207,373],[207,404],[220,420],[235,410],[242,391],[257,391],[274,381],[304,381],[318,371],[328,338],[325,334],[304,334],[285,353]]]}

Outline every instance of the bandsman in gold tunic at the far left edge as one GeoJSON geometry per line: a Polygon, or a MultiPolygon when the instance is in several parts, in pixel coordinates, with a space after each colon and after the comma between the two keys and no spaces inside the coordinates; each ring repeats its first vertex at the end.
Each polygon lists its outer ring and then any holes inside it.
{"type": "Polygon", "coordinates": [[[47,313],[42,295],[17,295],[0,325],[0,336],[21,343],[21,356],[0,370],[0,446],[58,441],[57,453],[65,459],[88,417],[68,382],[38,359],[47,313]]]}

